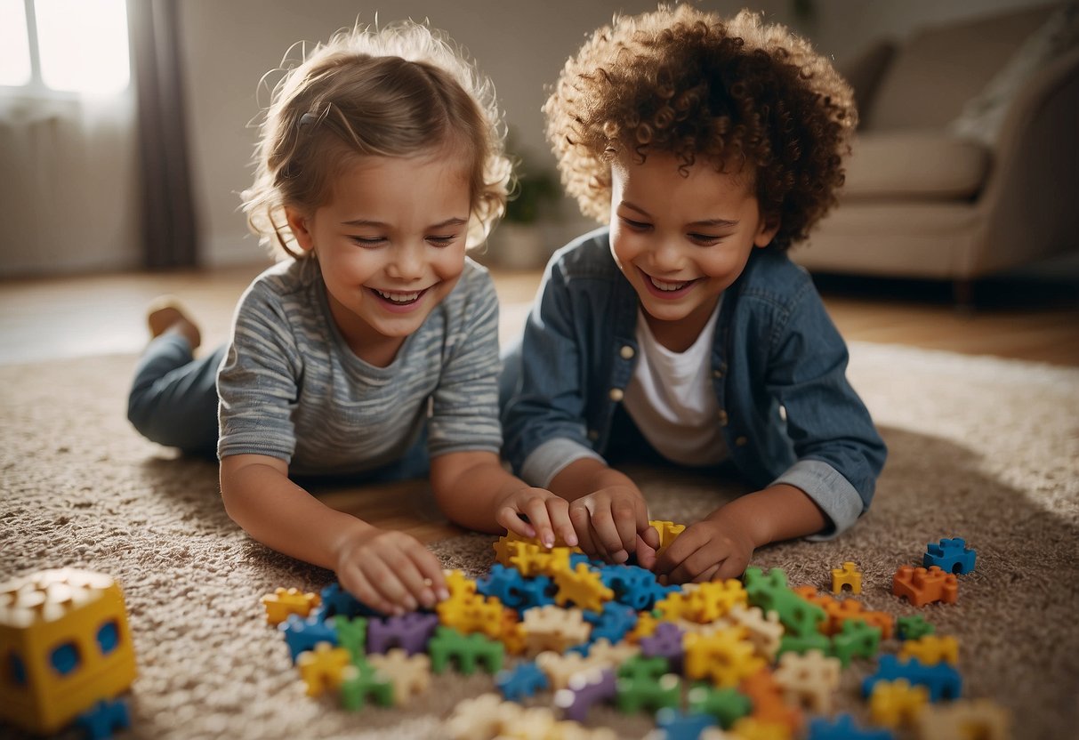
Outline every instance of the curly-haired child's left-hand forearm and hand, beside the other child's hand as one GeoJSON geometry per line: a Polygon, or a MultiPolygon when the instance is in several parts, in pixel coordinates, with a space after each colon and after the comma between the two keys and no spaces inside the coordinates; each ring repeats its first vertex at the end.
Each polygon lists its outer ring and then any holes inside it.
{"type": "Polygon", "coordinates": [[[652,567],[659,533],[648,525],[644,496],[625,474],[584,457],[560,470],[550,490],[571,502],[570,520],[587,554],[624,563],[636,552],[642,567],[652,567]]]}

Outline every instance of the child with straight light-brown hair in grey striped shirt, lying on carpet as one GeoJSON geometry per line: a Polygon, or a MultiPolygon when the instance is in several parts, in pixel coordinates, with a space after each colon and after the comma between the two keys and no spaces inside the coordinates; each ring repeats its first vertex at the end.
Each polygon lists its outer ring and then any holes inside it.
{"type": "Polygon", "coordinates": [[[181,310],[149,316],[135,426],[216,448],[233,520],[382,612],[446,598],[438,560],[290,476],[429,470],[464,526],[573,537],[565,501],[498,460],[497,300],[465,250],[505,207],[502,132],[490,81],[426,26],[339,32],[284,72],[261,125],[244,209],[282,261],[241,298],[231,342],[195,359],[181,310]]]}

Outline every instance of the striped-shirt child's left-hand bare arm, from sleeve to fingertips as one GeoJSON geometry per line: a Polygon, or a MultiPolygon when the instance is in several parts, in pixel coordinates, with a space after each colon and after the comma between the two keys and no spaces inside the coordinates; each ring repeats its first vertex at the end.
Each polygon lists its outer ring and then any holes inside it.
{"type": "Polygon", "coordinates": [[[221,460],[221,496],[229,516],[263,545],[333,571],[341,586],[387,614],[449,592],[438,559],[418,539],[379,530],[326,506],[288,479],[288,465],[269,455],[221,460]]]}

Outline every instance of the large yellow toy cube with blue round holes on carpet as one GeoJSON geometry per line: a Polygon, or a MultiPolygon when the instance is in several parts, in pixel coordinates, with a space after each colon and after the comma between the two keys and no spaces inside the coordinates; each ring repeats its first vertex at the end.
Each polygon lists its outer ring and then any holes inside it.
{"type": "Polygon", "coordinates": [[[50,735],[135,680],[124,595],[111,576],[57,568],[0,586],[0,721],[50,735]]]}

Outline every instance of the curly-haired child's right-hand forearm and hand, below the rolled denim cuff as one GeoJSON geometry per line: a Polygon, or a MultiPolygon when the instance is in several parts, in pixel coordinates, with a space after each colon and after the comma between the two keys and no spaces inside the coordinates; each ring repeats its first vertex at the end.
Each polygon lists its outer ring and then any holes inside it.
{"type": "Polygon", "coordinates": [[[687,526],[656,559],[655,573],[672,584],[736,578],[746,571],[755,548],[815,534],[828,521],[801,489],[769,485],[687,526]]]}

